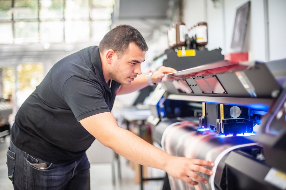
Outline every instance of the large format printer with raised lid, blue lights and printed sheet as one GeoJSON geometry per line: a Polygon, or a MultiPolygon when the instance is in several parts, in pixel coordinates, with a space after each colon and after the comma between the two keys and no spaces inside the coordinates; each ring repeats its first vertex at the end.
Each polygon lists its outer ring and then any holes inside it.
{"type": "Polygon", "coordinates": [[[168,74],[151,100],[152,138],[167,153],[215,162],[208,183],[175,189],[286,189],[286,59],[219,61],[168,74]]]}

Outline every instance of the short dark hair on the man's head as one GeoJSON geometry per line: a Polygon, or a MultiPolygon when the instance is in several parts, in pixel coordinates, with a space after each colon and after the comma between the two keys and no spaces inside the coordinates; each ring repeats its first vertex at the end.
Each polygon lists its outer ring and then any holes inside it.
{"type": "Polygon", "coordinates": [[[130,42],[135,43],[142,51],[148,51],[143,36],[130,25],[118,25],[110,30],[100,41],[98,48],[100,53],[112,49],[117,53],[118,58],[121,58],[128,49],[130,42]]]}

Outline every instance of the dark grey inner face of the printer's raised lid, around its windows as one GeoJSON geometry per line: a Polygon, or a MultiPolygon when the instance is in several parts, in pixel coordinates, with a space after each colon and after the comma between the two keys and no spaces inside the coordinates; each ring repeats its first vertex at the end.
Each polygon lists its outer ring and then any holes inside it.
{"type": "MultiPolygon", "coordinates": [[[[254,87],[254,91],[257,95],[256,98],[272,98],[272,93],[275,91],[280,91],[280,86],[272,76],[268,68],[265,64],[256,63],[253,68],[246,69],[244,71],[246,77],[249,79],[251,84],[254,87]]],[[[210,76],[210,75],[204,75],[210,76]]],[[[201,76],[196,76],[201,77],[201,76]]],[[[192,91],[194,93],[190,95],[197,95],[197,96],[209,96],[209,97],[249,97],[251,95],[244,88],[241,81],[238,79],[235,72],[225,72],[223,74],[216,75],[217,79],[221,83],[222,87],[225,89],[227,93],[225,94],[204,94],[202,90],[198,87],[197,83],[194,81],[194,77],[186,78],[185,80],[190,85],[192,91]]],[[[173,85],[170,85],[170,81],[163,82],[164,86],[166,87],[166,91],[169,94],[186,94],[186,93],[178,93],[174,91],[173,85]]]]}

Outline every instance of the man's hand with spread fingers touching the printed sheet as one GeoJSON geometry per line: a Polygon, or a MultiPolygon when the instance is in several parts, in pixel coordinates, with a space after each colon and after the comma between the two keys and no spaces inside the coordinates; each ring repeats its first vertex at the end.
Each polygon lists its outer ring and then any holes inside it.
{"type": "Polygon", "coordinates": [[[184,157],[173,157],[167,164],[165,171],[171,176],[182,179],[190,185],[198,185],[198,182],[207,183],[196,172],[212,175],[213,172],[202,166],[213,167],[215,164],[205,160],[189,159],[184,157]]]}

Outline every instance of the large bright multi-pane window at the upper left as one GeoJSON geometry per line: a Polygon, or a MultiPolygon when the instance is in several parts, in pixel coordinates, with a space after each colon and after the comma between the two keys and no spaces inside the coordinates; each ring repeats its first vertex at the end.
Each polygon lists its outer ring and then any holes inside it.
{"type": "Polygon", "coordinates": [[[99,42],[115,0],[1,0],[0,44],[99,42]]]}

